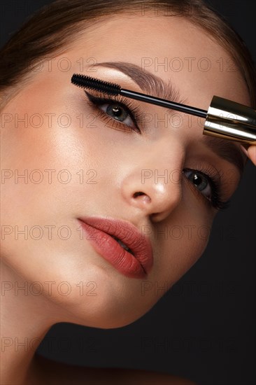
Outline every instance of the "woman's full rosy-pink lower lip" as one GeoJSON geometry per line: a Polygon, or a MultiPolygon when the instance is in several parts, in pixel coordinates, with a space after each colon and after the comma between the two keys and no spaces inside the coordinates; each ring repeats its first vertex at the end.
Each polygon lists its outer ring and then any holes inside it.
{"type": "Polygon", "coordinates": [[[120,273],[129,276],[129,278],[145,278],[146,274],[140,262],[134,255],[122,248],[111,235],[92,228],[87,223],[81,222],[81,225],[87,234],[86,239],[91,242],[97,253],[108,260],[120,273]]]}

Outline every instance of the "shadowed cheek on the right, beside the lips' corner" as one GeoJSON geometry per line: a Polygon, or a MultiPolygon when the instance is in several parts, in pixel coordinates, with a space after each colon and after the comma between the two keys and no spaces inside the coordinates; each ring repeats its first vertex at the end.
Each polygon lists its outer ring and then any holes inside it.
{"type": "MultiPolygon", "coordinates": [[[[185,194],[171,222],[156,230],[162,246],[157,255],[157,268],[163,281],[173,286],[204,252],[211,234],[213,214],[191,193],[185,194]]],[[[159,242],[160,243],[160,242],[159,242]]],[[[160,244],[161,245],[161,244],[160,244]]]]}

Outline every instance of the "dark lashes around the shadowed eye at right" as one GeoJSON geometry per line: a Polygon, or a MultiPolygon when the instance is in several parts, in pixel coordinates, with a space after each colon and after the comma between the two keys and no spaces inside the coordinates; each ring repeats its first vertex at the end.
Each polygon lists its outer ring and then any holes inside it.
{"type": "MultiPolygon", "coordinates": [[[[190,183],[194,187],[194,190],[199,193],[199,196],[201,196],[206,204],[208,204],[210,207],[214,207],[214,209],[217,209],[218,211],[223,211],[229,207],[230,200],[222,200],[222,193],[221,193],[221,182],[220,182],[220,176],[218,175],[218,172],[211,168],[211,167],[205,167],[201,165],[197,165],[195,169],[185,169],[190,170],[194,172],[198,172],[206,177],[208,182],[210,183],[212,195],[211,198],[205,197],[194,185],[193,183],[190,183]]],[[[189,182],[189,180],[186,178],[186,180],[189,182]]]]}

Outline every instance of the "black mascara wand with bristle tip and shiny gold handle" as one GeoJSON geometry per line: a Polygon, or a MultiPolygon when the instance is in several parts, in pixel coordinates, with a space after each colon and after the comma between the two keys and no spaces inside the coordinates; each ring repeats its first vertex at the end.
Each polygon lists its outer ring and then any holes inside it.
{"type": "Polygon", "coordinates": [[[71,83],[78,87],[95,90],[113,96],[122,95],[140,102],[173,109],[204,118],[203,134],[240,143],[256,144],[256,111],[231,100],[214,96],[208,111],[160,99],[141,92],[121,88],[120,85],[74,73],[71,83]]]}

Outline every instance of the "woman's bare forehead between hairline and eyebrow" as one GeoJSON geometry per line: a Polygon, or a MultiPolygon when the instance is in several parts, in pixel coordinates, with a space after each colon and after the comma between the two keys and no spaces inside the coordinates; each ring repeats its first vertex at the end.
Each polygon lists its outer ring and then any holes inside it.
{"type": "MultiPolygon", "coordinates": [[[[171,82],[201,109],[214,94],[250,104],[229,53],[185,18],[119,14],[89,27],[73,43],[73,55],[91,62],[132,62],[171,82]],[[203,96],[203,97],[202,97],[203,96]]],[[[93,74],[92,74],[93,75],[93,74]]]]}

